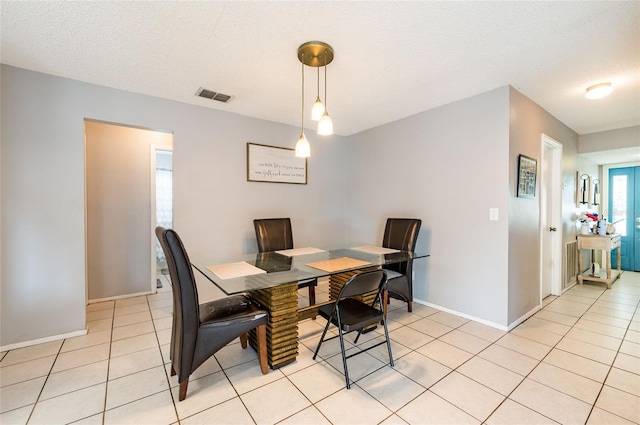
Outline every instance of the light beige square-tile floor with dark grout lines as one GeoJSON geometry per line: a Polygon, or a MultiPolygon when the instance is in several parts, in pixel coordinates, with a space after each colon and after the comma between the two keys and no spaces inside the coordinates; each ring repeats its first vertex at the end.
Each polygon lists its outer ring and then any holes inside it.
{"type": "Polygon", "coordinates": [[[182,402],[168,374],[171,293],[91,304],[86,336],[0,353],[0,423],[640,424],[639,301],[640,273],[625,272],[611,290],[548,297],[509,333],[393,301],[395,367],[384,346],[351,359],[351,390],[337,343],[312,359],[325,322],[306,320],[295,363],[262,375],[232,343],[182,402]]]}

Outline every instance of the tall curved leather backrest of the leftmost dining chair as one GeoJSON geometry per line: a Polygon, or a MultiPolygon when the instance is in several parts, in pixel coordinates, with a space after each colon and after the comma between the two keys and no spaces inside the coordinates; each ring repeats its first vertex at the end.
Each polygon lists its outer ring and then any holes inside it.
{"type": "Polygon", "coordinates": [[[180,236],[171,229],[156,228],[156,236],[167,257],[167,266],[171,276],[173,292],[173,313],[175,333],[173,335],[172,359],[179,365],[177,372],[181,376],[191,372],[196,346],[200,311],[198,290],[187,251],[180,236]]]}

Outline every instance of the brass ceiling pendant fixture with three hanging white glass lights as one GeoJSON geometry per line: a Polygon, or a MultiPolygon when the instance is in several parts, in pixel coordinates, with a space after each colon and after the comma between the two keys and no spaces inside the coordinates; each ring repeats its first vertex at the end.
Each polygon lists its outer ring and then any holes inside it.
{"type": "Polygon", "coordinates": [[[316,102],[311,110],[311,119],[318,121],[318,134],[328,136],[333,134],[333,122],[327,112],[327,65],[333,61],[333,48],[322,41],[308,41],[298,47],[298,60],[302,62],[302,132],[296,144],[296,156],[308,157],[311,148],[304,135],[304,66],[318,68],[318,85],[316,102]],[[320,67],[324,67],[324,101],[320,100],[320,67]]]}

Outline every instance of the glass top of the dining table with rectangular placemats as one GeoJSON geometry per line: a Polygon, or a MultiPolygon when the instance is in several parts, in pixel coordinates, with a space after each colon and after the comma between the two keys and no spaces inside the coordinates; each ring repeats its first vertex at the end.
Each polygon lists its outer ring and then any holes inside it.
{"type": "Polygon", "coordinates": [[[356,247],[301,248],[227,259],[192,260],[193,267],[227,295],[428,257],[426,253],[356,247]]]}

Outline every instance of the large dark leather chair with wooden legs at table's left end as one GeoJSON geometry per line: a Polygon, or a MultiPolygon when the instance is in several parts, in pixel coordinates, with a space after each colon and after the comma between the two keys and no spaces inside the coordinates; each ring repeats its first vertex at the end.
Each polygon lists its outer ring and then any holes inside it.
{"type": "Polygon", "coordinates": [[[200,304],[189,256],[178,234],[156,227],[167,258],[173,292],[171,376],[178,375],[178,400],[187,396],[189,376],[222,347],[240,337],[247,348],[248,332],[256,329],[260,369],[268,372],[267,321],[269,315],[245,295],[232,295],[200,304]]]}

